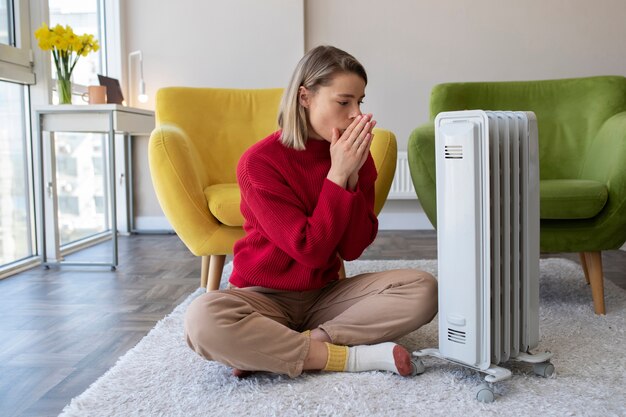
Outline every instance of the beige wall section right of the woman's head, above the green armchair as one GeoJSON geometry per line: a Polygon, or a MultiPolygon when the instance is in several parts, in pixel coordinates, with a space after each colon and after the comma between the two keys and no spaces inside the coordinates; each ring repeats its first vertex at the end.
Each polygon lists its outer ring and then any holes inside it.
{"type": "Polygon", "coordinates": [[[365,65],[365,110],[400,149],[437,83],[626,74],[624,0],[309,0],[305,15],[307,49],[365,65]]]}

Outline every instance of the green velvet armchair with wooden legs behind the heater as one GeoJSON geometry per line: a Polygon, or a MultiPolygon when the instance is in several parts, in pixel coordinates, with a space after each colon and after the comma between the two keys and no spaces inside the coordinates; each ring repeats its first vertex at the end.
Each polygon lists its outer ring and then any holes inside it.
{"type": "Polygon", "coordinates": [[[605,314],[601,251],[626,241],[626,78],[447,83],[433,88],[431,121],[409,137],[419,201],[436,227],[435,116],[453,110],[537,115],[542,252],[578,252],[596,314],[605,314]]]}

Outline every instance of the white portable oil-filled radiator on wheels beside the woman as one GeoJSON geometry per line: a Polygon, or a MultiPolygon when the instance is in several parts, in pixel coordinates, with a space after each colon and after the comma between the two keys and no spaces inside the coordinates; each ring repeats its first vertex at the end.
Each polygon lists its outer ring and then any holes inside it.
{"type": "MultiPolygon", "coordinates": [[[[531,112],[444,112],[435,119],[439,349],[414,352],[486,375],[534,364],[549,376],[539,343],[539,160],[531,112]]],[[[416,361],[418,372],[423,370],[416,361]]],[[[481,384],[479,401],[493,389],[481,384]]]]}

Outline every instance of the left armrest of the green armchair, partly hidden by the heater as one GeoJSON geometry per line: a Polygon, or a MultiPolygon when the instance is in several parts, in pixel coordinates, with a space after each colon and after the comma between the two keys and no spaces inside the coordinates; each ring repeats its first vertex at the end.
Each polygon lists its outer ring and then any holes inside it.
{"type": "Polygon", "coordinates": [[[428,220],[437,227],[437,187],[435,175],[435,125],[417,127],[407,144],[411,179],[417,198],[428,220]]]}

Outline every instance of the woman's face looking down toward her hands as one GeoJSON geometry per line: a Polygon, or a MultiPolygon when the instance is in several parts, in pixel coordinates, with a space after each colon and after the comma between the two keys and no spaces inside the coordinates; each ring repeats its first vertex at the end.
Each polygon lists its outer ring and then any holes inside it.
{"type": "Polygon", "coordinates": [[[333,128],[342,134],[361,114],[365,81],[351,72],[336,74],[316,92],[300,87],[300,104],[306,109],[309,138],[331,141],[333,128]]]}

